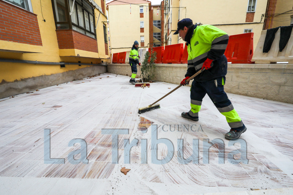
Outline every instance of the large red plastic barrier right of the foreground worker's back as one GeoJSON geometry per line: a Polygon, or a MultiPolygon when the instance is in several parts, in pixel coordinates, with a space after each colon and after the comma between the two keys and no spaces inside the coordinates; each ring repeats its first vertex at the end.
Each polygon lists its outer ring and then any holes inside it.
{"type": "Polygon", "coordinates": [[[232,64],[253,64],[253,32],[229,36],[225,56],[232,64]]]}

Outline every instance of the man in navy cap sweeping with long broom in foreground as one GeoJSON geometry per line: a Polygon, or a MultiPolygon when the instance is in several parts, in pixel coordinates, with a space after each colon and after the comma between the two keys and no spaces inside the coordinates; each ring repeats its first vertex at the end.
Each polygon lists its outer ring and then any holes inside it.
{"type": "Polygon", "coordinates": [[[231,127],[225,138],[238,139],[246,131],[246,127],[224,92],[227,74],[227,58],[224,52],[228,44],[228,34],[212,25],[193,25],[189,18],[180,20],[177,25],[174,34],[179,34],[188,46],[187,73],[180,84],[189,84],[186,82],[188,78],[202,68],[206,69],[194,77],[190,89],[191,109],[181,116],[198,121],[202,99],[207,94],[231,127]]]}

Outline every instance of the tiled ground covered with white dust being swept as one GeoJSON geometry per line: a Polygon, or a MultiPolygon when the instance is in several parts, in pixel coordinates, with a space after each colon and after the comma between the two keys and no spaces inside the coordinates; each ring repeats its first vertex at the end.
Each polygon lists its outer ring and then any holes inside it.
{"type": "Polygon", "coordinates": [[[0,99],[1,194],[291,194],[292,104],[228,94],[248,129],[232,142],[224,139],[229,126],[208,97],[198,122],[180,116],[190,108],[186,86],[161,100],[161,108],[138,114],[177,85],[143,89],[129,79],[106,73],[0,99]],[[105,134],[114,129],[118,139],[105,134]],[[76,144],[69,146],[72,139],[76,144]],[[207,151],[212,140],[219,144],[207,151]],[[83,155],[87,164],[71,159],[83,155]],[[64,163],[46,164],[50,158],[64,163]],[[122,167],[131,170],[124,175],[122,167]]]}

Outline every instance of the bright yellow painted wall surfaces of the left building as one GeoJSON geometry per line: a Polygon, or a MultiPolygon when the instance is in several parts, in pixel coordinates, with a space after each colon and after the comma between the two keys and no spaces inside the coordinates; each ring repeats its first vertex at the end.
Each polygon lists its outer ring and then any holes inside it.
{"type": "MultiPolygon", "coordinates": [[[[101,1],[96,0],[100,5],[101,1]]],[[[80,58],[80,57],[60,57],[59,47],[57,42],[56,27],[54,21],[54,15],[52,10],[51,1],[42,1],[42,11],[40,1],[32,1],[33,12],[38,16],[38,24],[40,28],[40,34],[42,38],[42,46],[32,46],[28,44],[19,44],[8,41],[1,41],[0,47],[12,48],[16,47],[20,51],[34,51],[41,53],[22,54],[13,52],[0,51],[0,58],[28,60],[28,61],[47,61],[47,62],[78,62],[81,63],[100,63],[101,59],[108,58],[105,55],[103,24],[100,21],[105,21],[106,17],[100,15],[98,27],[97,27],[97,39],[98,39],[98,51],[97,58],[80,58]],[[46,22],[43,21],[43,18],[46,22]],[[102,29],[102,30],[100,30],[102,29]]],[[[95,9],[96,21],[99,11],[95,9]]],[[[86,52],[86,51],[82,51],[86,52]]],[[[87,52],[89,56],[93,57],[93,52],[87,52]]],[[[62,73],[69,70],[76,70],[80,68],[88,67],[88,65],[66,65],[65,68],[60,68],[60,65],[37,65],[37,64],[25,64],[25,63],[4,63],[0,62],[0,83],[4,80],[6,82],[13,82],[21,79],[37,77],[41,75],[52,75],[56,73],[62,73]]]]}

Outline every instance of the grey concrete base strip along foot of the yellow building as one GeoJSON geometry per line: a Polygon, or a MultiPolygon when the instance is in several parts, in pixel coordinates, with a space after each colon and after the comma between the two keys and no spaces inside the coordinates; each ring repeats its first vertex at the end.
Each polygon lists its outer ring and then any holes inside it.
{"type": "Polygon", "coordinates": [[[102,74],[107,71],[107,66],[90,66],[77,70],[70,70],[63,73],[53,75],[43,75],[39,77],[32,77],[14,82],[0,83],[0,98],[14,96],[26,92],[31,92],[36,89],[42,89],[53,85],[70,82],[85,78],[92,75],[102,74]]]}

